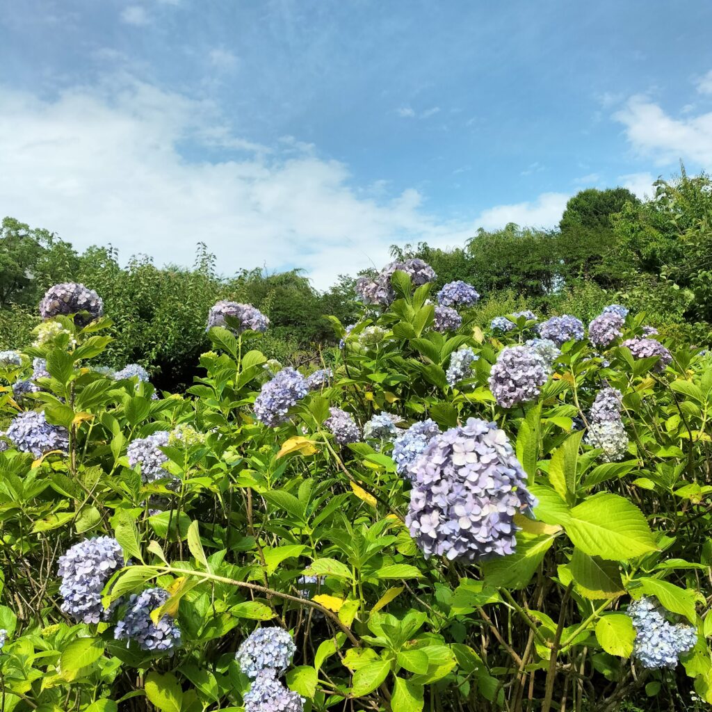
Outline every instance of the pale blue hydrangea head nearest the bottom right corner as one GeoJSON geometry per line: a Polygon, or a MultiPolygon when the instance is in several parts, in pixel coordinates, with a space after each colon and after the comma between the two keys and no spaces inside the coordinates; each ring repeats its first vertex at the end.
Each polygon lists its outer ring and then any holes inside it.
{"type": "Polygon", "coordinates": [[[635,629],[633,654],[646,668],[674,668],[679,656],[697,643],[697,632],[689,625],[666,621],[661,609],[643,597],[628,606],[635,629]]]}

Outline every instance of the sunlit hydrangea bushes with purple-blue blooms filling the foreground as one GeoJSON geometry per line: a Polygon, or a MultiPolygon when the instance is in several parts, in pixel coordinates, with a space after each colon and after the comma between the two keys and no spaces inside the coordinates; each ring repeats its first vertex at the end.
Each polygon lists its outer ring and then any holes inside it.
{"type": "Polygon", "coordinates": [[[479,327],[433,281],[367,278],[319,363],[206,314],[183,394],[101,369],[100,296],[48,290],[0,360],[6,712],[712,704],[709,345],[616,305],[479,327]]]}

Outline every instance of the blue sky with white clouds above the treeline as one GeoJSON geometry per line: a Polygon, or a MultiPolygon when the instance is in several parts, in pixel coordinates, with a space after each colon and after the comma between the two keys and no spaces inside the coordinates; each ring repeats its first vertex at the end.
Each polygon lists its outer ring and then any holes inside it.
{"type": "Polygon", "coordinates": [[[0,0],[3,214],[126,259],[300,266],[557,223],[712,164],[712,5],[0,0]]]}

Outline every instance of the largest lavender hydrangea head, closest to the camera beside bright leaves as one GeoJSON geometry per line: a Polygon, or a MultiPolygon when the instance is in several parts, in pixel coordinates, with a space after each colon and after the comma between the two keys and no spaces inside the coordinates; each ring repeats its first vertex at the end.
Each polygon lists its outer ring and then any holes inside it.
{"type": "Polygon", "coordinates": [[[406,524],[426,557],[483,560],[513,553],[514,515],[535,506],[506,433],[470,418],[427,444],[411,466],[406,524]]]}

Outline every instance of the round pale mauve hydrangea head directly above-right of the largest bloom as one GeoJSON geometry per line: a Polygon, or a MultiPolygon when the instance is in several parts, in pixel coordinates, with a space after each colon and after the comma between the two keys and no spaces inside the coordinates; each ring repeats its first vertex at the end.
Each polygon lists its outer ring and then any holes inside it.
{"type": "Polygon", "coordinates": [[[490,371],[492,395],[503,408],[535,399],[549,379],[549,366],[526,346],[508,346],[499,352],[490,371]]]}

